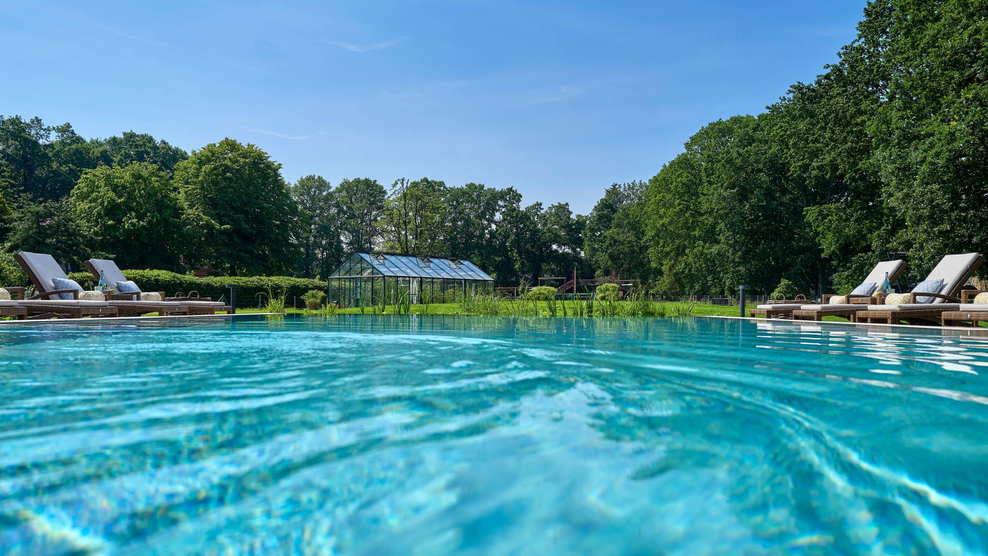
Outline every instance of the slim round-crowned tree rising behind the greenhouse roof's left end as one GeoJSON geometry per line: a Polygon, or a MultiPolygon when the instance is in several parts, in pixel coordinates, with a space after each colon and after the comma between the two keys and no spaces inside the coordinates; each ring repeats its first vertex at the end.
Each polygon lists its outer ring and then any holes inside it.
{"type": "Polygon", "coordinates": [[[371,178],[345,179],[336,186],[336,202],[347,251],[376,248],[387,193],[371,178]]]}

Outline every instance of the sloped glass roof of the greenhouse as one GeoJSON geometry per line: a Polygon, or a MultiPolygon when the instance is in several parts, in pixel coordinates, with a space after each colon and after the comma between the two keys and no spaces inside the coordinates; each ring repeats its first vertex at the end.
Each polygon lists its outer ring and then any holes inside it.
{"type": "Polygon", "coordinates": [[[380,251],[353,253],[329,275],[330,279],[370,278],[372,276],[494,281],[490,275],[466,259],[380,251]]]}

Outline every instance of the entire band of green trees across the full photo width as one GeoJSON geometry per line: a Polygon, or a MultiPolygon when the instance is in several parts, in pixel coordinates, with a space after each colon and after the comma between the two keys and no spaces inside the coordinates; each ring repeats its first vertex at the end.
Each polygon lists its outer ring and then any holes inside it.
{"type": "Polygon", "coordinates": [[[325,277],[345,252],[380,248],[469,258],[502,285],[614,270],[665,294],[771,291],[783,278],[846,291],[904,252],[908,280],[944,254],[988,250],[986,13],[988,0],[868,3],[858,38],[812,83],[707,125],[588,216],[475,183],[288,184],[233,139],[187,153],[0,117],[2,250],[325,277]]]}

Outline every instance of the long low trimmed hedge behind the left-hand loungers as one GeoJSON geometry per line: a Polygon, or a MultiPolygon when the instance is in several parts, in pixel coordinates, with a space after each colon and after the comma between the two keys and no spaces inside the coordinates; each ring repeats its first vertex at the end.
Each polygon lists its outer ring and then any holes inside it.
{"type": "MultiPolygon", "coordinates": [[[[220,296],[229,301],[230,290],[226,284],[236,284],[237,305],[256,305],[257,294],[268,295],[268,289],[276,295],[285,292],[288,304],[292,296],[301,298],[309,290],[326,291],[327,284],[322,280],[309,278],[291,278],[289,276],[206,276],[198,278],[191,274],[179,274],[167,270],[124,270],[127,280],[133,280],[145,292],[165,292],[173,296],[178,292],[188,294],[192,290],[199,291],[203,297],[218,300],[220,296]]],[[[80,286],[92,289],[97,279],[89,272],[73,272],[69,278],[80,286]]]]}

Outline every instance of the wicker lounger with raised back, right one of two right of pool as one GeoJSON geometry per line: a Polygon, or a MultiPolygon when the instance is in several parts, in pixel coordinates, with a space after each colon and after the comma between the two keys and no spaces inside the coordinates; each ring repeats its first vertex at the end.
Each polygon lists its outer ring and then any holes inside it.
{"type": "Polygon", "coordinates": [[[981,253],[947,255],[930,272],[927,280],[944,280],[939,293],[911,292],[907,303],[869,305],[855,318],[859,323],[943,324],[944,313],[961,311],[960,295],[964,284],[985,261],[981,253]],[[933,298],[933,303],[917,303],[918,298],[933,298]]]}

